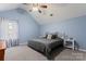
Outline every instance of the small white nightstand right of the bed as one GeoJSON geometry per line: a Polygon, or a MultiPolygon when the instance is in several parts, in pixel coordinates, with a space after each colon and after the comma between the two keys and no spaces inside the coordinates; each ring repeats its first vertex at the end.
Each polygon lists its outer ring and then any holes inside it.
{"type": "Polygon", "coordinates": [[[72,48],[73,50],[75,50],[75,40],[73,38],[67,38],[64,39],[64,47],[65,48],[72,48]]]}

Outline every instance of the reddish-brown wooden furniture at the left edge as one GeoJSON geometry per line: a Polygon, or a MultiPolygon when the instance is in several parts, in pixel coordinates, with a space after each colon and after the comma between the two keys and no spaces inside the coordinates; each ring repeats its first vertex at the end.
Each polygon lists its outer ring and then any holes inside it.
{"type": "Polygon", "coordinates": [[[4,61],[5,41],[0,40],[0,61],[4,61]]]}

